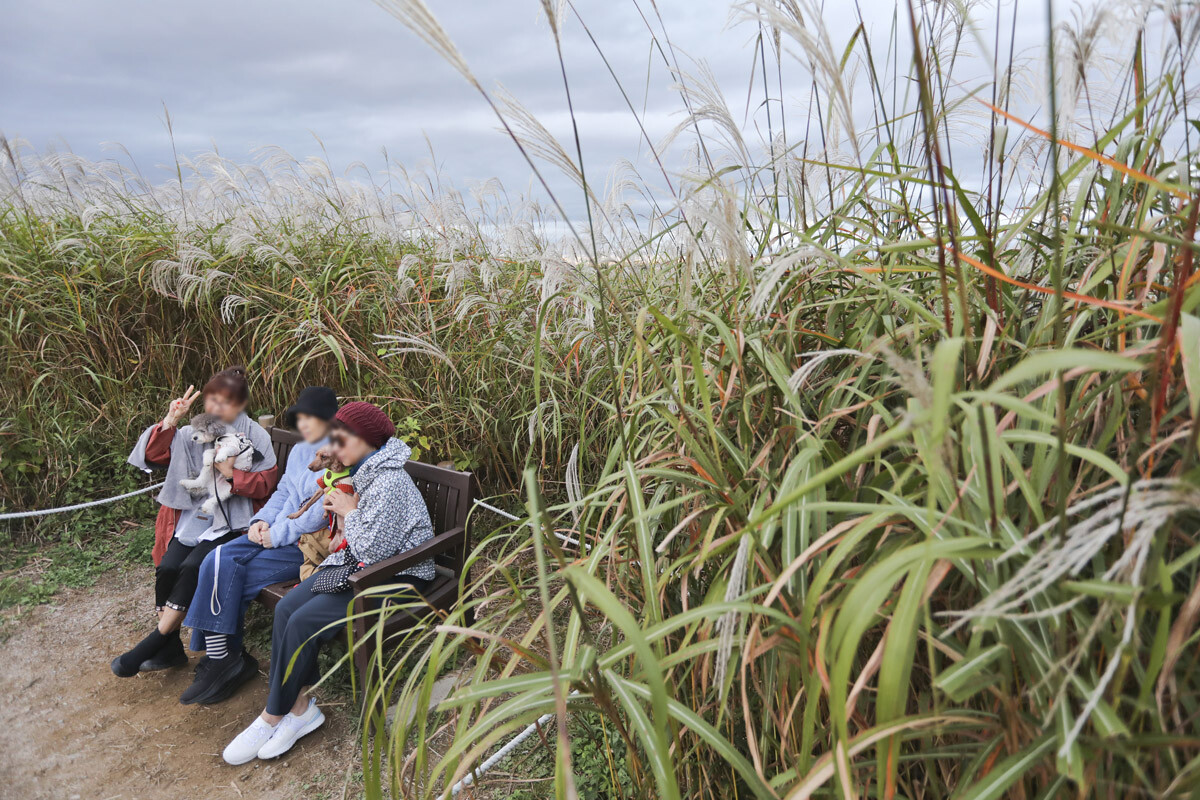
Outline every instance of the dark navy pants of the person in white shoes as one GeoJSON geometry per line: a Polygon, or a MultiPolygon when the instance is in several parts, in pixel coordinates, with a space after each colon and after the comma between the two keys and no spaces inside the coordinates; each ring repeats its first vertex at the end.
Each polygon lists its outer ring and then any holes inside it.
{"type": "MultiPolygon", "coordinates": [[[[270,694],[266,697],[268,714],[282,716],[292,710],[296,698],[300,697],[300,690],[312,686],[320,679],[320,670],[317,669],[317,652],[320,644],[346,630],[344,624],[332,625],[332,622],[346,619],[354,593],[350,589],[334,594],[316,593],[312,590],[312,583],[318,575],[320,570],[300,582],[275,607],[271,670],[268,678],[270,684],[270,694]],[[290,673],[288,673],[289,664],[290,673]],[[286,681],[284,674],[288,675],[286,681]]],[[[408,576],[396,578],[396,582],[407,583],[416,591],[425,590],[431,583],[408,576]]]]}

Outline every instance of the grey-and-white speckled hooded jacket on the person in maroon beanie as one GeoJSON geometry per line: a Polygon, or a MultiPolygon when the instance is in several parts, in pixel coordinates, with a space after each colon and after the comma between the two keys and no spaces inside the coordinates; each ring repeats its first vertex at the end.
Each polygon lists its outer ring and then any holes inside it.
{"type": "MultiPolygon", "coordinates": [[[[346,515],[348,549],[356,561],[374,564],[400,555],[433,539],[433,524],[413,479],[404,469],[412,450],[396,438],[361,462],[354,473],[359,507],[346,515]]],[[[346,549],[330,553],[322,566],[346,563],[346,549]]],[[[433,579],[433,559],[408,567],[401,575],[433,579]]]]}

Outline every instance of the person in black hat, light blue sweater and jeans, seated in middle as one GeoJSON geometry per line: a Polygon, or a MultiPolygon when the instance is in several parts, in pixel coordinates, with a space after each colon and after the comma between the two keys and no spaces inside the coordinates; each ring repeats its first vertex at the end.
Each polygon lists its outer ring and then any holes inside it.
{"type": "Polygon", "coordinates": [[[318,473],[308,469],[316,452],[329,444],[329,425],[337,413],[337,395],[326,386],[305,387],[283,414],[283,423],[304,441],[292,447],[275,494],[250,522],[250,530],[209,553],[184,625],[192,628],[192,650],[204,650],[196,680],[184,690],[184,705],[210,705],[228,699],[258,674],[258,661],[242,648],[246,608],[272,583],[299,581],[304,553],[301,535],[325,528],[325,510],[313,504],[292,518],[317,491],[318,473]]]}

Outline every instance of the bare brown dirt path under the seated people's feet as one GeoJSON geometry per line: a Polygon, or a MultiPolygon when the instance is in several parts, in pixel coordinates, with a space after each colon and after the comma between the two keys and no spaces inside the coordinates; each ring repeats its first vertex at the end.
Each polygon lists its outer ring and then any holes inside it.
{"type": "MultiPolygon", "coordinates": [[[[190,668],[113,675],[109,661],[151,624],[151,575],[114,570],[7,626],[0,800],[342,798],[359,757],[344,708],[325,708],[325,727],[283,758],[228,766],[221,750],[262,710],[265,673],[215,706],[179,704],[190,668]]],[[[269,654],[254,655],[265,670],[269,654]]]]}

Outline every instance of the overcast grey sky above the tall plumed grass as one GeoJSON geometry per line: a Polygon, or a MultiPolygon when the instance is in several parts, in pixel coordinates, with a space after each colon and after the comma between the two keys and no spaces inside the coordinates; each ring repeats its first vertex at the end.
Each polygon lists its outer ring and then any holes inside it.
{"type": "MultiPolygon", "coordinates": [[[[430,6],[485,86],[508,88],[563,142],[569,118],[553,40],[536,0],[431,0],[430,6]]],[[[638,16],[649,0],[578,0],[578,8],[640,107],[654,138],[678,121],[678,96],[638,16]]],[[[752,68],[750,24],[731,25],[728,0],[658,0],[676,47],[703,59],[740,115],[752,68]]],[[[894,0],[862,0],[886,41],[894,0]]],[[[499,176],[520,191],[529,170],[497,132],[478,94],[398,20],[370,0],[78,2],[0,0],[0,132],[38,150],[70,148],[121,157],[145,172],[170,162],[163,106],[182,154],[217,148],[248,158],[262,145],[335,168],[391,158],[421,168],[430,145],[460,187],[499,176]]],[[[844,0],[827,24],[844,46],[854,24],[844,0]]],[[[990,12],[985,12],[990,13],[990,12]]],[[[569,12],[568,12],[569,14],[569,12]]],[[[1020,36],[1042,36],[1044,11],[1020,36]]],[[[589,168],[635,158],[637,131],[577,20],[565,23],[565,58],[589,168]]],[[[990,36],[990,34],[988,34],[990,36]]],[[[796,62],[792,62],[796,64],[796,62]]],[[[785,102],[808,101],[809,78],[790,66],[785,102]]],[[[745,119],[764,127],[762,109],[745,119]]]]}

